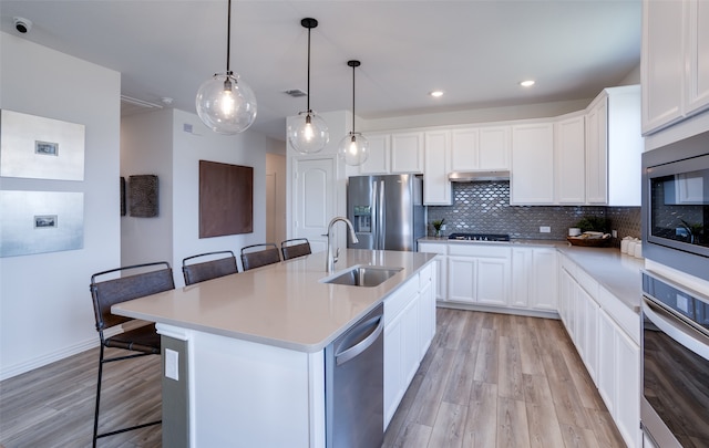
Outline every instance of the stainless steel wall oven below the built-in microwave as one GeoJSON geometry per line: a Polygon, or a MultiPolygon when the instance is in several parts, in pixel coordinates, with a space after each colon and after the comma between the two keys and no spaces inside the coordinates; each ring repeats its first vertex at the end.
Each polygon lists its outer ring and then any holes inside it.
{"type": "Polygon", "coordinates": [[[643,430],[659,448],[709,447],[709,296],[643,273],[643,430]]]}

